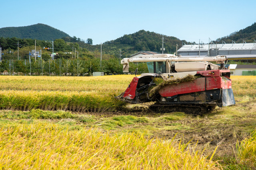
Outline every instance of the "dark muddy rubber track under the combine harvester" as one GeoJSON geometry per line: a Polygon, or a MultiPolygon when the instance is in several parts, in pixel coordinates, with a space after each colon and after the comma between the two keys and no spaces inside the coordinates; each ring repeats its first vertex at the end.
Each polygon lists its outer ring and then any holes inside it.
{"type": "Polygon", "coordinates": [[[184,112],[190,115],[202,115],[204,113],[209,113],[215,107],[216,106],[208,106],[204,104],[153,104],[149,106],[149,108],[156,113],[184,112]]]}

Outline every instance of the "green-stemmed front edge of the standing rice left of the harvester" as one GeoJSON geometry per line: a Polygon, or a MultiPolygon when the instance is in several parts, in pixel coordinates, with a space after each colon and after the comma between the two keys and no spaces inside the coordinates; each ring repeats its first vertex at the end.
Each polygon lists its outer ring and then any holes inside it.
{"type": "Polygon", "coordinates": [[[124,102],[94,92],[0,91],[0,109],[70,110],[76,112],[116,111],[124,102]]]}

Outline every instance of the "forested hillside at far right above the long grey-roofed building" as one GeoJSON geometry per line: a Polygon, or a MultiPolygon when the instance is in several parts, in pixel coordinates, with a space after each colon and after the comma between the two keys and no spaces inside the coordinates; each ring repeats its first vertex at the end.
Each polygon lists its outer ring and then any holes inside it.
{"type": "Polygon", "coordinates": [[[234,40],[236,43],[243,43],[243,39],[246,43],[253,43],[254,39],[256,40],[256,22],[226,37],[218,38],[217,41],[220,42],[223,40],[225,43],[232,43],[232,40],[234,40]]]}

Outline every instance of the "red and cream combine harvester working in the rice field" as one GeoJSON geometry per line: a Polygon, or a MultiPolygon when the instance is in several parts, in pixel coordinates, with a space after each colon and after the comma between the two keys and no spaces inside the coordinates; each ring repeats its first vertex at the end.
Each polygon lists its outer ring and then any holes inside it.
{"type": "Polygon", "coordinates": [[[149,108],[158,113],[198,115],[216,106],[234,105],[230,70],[224,67],[227,60],[226,56],[185,58],[171,54],[124,58],[123,72],[129,72],[130,62],[146,62],[149,72],[137,77],[137,68],[136,77],[116,98],[131,104],[155,102],[149,108]]]}

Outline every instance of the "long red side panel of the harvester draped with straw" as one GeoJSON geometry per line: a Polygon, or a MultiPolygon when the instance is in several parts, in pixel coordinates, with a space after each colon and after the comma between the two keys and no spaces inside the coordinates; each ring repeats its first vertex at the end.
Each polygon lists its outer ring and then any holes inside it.
{"type": "Polygon", "coordinates": [[[159,90],[163,97],[170,97],[177,94],[201,92],[205,90],[205,78],[196,78],[193,82],[183,82],[177,85],[166,86],[159,90]]]}

